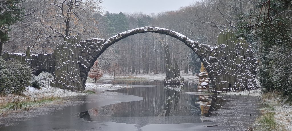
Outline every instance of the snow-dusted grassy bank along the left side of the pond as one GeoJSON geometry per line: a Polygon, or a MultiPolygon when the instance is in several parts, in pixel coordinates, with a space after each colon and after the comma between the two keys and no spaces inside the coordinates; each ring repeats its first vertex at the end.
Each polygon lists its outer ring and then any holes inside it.
{"type": "Polygon", "coordinates": [[[41,89],[36,89],[31,86],[26,87],[26,91],[22,95],[7,94],[0,96],[0,117],[5,117],[13,113],[22,113],[23,111],[30,111],[34,108],[41,108],[43,106],[51,106],[54,104],[62,105],[65,103],[63,99],[66,97],[73,96],[84,96],[97,94],[95,91],[91,91],[91,88],[126,88],[125,86],[118,85],[107,85],[107,84],[94,84],[97,87],[86,88],[86,91],[72,92],[68,90],[63,90],[60,88],[55,88],[51,86],[41,87],[41,89]],[[11,109],[11,106],[15,106],[17,101],[21,103],[22,106],[26,106],[24,109],[11,109]]]}

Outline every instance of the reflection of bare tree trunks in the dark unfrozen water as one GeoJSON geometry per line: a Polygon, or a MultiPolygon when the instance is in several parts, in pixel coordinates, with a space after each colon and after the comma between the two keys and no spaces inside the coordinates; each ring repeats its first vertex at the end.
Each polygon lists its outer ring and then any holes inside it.
{"type": "MultiPolygon", "coordinates": [[[[139,84],[139,83],[131,83],[139,84]]],[[[142,83],[140,83],[142,84],[142,83]]],[[[144,117],[144,116],[185,116],[201,115],[201,105],[217,107],[215,101],[221,99],[208,96],[208,100],[200,98],[200,95],[181,94],[189,91],[188,84],[183,87],[167,86],[163,87],[161,81],[151,81],[147,84],[159,85],[156,87],[122,88],[115,92],[128,93],[130,95],[141,96],[143,100],[136,102],[122,102],[104,107],[96,107],[88,110],[92,119],[100,120],[109,117],[144,117]],[[214,102],[213,102],[214,101],[214,102]],[[208,104],[209,103],[209,104],[208,104]],[[94,118],[93,118],[94,117],[94,118]]],[[[209,108],[212,109],[212,108],[209,108]]],[[[209,111],[209,110],[208,110],[209,111]]]]}

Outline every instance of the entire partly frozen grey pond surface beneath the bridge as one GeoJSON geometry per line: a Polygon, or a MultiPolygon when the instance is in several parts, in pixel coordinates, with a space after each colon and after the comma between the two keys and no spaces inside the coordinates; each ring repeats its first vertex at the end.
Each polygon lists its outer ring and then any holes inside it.
{"type": "Polygon", "coordinates": [[[77,101],[93,102],[15,121],[18,125],[0,130],[246,130],[259,115],[256,97],[184,94],[197,92],[192,81],[179,87],[164,87],[161,80],[117,84],[134,88],[80,96],[77,101]]]}

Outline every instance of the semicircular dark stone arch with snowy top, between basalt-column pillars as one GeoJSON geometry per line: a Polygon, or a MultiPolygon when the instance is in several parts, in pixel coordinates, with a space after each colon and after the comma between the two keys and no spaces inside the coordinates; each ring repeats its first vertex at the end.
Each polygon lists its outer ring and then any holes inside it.
{"type": "Polygon", "coordinates": [[[93,38],[92,40],[79,42],[79,69],[80,77],[83,82],[83,88],[85,88],[85,82],[90,68],[93,66],[94,62],[98,56],[102,54],[102,52],[104,52],[110,45],[118,42],[121,39],[138,33],[147,32],[160,33],[177,38],[178,40],[185,43],[185,45],[190,47],[199,56],[201,62],[203,62],[204,67],[206,68],[208,75],[211,78],[211,84],[215,87],[215,77],[217,75],[216,66],[218,61],[216,58],[217,47],[199,44],[197,41],[193,41],[190,38],[169,29],[145,26],[119,33],[115,36],[112,36],[108,40],[93,38]]]}

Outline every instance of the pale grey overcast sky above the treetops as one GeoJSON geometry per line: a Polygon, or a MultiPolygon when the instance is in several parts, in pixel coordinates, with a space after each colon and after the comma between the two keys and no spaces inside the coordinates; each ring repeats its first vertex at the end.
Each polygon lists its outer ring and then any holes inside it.
{"type": "Polygon", "coordinates": [[[144,12],[146,14],[178,10],[197,0],[104,0],[102,6],[109,13],[144,12]]]}

